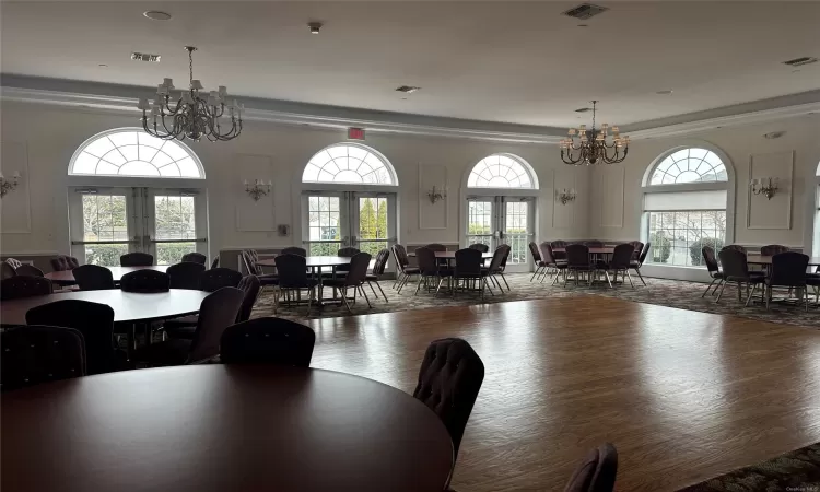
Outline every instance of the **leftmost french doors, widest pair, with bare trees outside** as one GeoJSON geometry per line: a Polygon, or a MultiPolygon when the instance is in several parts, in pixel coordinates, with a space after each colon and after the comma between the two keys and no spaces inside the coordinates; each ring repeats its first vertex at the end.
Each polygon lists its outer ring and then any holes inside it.
{"type": "Polygon", "coordinates": [[[133,251],[156,265],[208,254],[206,199],[197,190],[70,188],[69,220],[71,254],[86,263],[118,266],[133,251]]]}

